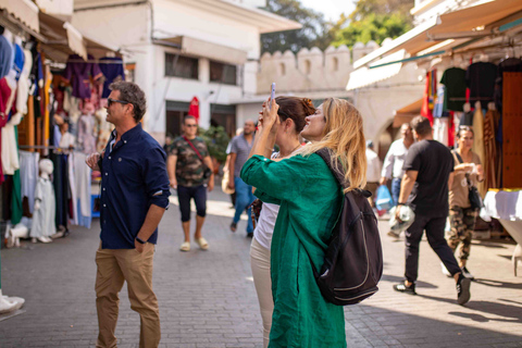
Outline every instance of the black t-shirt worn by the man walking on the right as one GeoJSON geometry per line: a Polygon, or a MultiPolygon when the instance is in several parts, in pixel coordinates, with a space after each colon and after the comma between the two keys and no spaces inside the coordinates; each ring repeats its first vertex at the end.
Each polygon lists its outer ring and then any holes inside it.
{"type": "Polygon", "coordinates": [[[448,178],[453,165],[449,149],[436,140],[422,140],[410,147],[403,169],[419,172],[408,198],[415,214],[447,216],[448,178]]]}

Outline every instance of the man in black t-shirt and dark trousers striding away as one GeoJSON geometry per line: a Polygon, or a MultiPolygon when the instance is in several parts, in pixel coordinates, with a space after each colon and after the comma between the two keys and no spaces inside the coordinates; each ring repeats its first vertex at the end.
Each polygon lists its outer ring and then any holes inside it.
{"type": "MultiPolygon", "coordinates": [[[[406,231],[406,281],[394,286],[400,293],[414,295],[419,273],[419,245],[426,231],[432,249],[455,277],[457,301],[470,300],[471,281],[462,275],[455,256],[444,238],[448,216],[448,188],[453,179],[453,157],[448,148],[433,140],[430,120],[417,116],[411,122],[418,142],[412,145],[405,161],[405,175],[398,206],[409,204],[414,213],[413,224],[406,231]],[[411,194],[411,195],[410,195],[411,194]]],[[[399,219],[400,209],[396,210],[399,219]]]]}

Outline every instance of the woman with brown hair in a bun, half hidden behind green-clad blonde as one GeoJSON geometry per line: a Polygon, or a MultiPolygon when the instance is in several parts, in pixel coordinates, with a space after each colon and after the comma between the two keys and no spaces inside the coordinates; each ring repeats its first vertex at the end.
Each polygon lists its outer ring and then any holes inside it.
{"type": "MultiPolygon", "coordinates": [[[[315,108],[307,98],[277,97],[275,101],[279,105],[277,114],[281,125],[275,139],[279,152],[273,153],[272,159],[277,160],[293,156],[300,148],[299,133],[306,125],[304,117],[315,113],[315,108]]],[[[263,320],[263,347],[265,348],[269,346],[274,310],[270,276],[270,247],[278,211],[279,206],[263,203],[250,247],[250,263],[263,320]]]]}

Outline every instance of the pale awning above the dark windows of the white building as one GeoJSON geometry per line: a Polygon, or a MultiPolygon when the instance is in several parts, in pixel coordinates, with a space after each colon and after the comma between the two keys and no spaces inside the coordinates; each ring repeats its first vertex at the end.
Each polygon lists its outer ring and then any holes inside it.
{"type": "Polygon", "coordinates": [[[175,36],[163,39],[154,39],[153,42],[157,45],[178,48],[181,49],[182,54],[206,57],[212,60],[232,63],[236,65],[245,64],[245,62],[247,61],[247,51],[196,39],[188,36],[175,36]]]}

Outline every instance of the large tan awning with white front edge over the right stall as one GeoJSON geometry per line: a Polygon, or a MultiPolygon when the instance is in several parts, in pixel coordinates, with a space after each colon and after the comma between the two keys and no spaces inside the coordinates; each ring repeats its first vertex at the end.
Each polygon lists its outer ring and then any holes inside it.
{"type": "MultiPolygon", "coordinates": [[[[380,57],[401,49],[405,49],[408,54],[414,55],[439,45],[440,42],[437,40],[457,37],[459,33],[480,35],[481,32],[484,32],[484,35],[492,34],[493,28],[490,25],[520,11],[522,11],[522,1],[520,0],[480,1],[470,8],[442,14],[424,22],[388,45],[357,60],[353,63],[353,67],[358,69],[366,65],[380,57]]],[[[456,42],[455,45],[458,44],[456,42]]]]}

